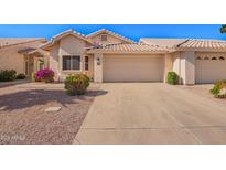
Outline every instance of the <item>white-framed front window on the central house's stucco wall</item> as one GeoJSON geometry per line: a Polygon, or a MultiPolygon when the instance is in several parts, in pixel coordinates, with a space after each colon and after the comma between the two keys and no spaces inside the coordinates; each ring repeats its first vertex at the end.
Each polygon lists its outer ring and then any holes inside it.
{"type": "Polygon", "coordinates": [[[79,55],[64,55],[63,56],[63,71],[66,70],[80,70],[79,55]]]}

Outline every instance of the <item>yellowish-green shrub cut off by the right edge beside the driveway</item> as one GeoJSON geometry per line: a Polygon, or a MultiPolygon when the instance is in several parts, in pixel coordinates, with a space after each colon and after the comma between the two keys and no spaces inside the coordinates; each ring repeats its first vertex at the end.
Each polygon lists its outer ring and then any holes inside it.
{"type": "Polygon", "coordinates": [[[226,98],[226,81],[215,83],[214,87],[211,89],[211,93],[214,97],[226,98]]]}

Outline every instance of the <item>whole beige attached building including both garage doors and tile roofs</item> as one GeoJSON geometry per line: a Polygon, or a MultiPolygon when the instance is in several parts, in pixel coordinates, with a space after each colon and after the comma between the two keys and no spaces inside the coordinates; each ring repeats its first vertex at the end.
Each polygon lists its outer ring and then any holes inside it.
{"type": "Polygon", "coordinates": [[[140,39],[139,43],[100,30],[83,35],[73,30],[53,36],[50,52],[55,79],[85,73],[94,82],[165,82],[169,71],[181,84],[226,79],[226,41],[140,39]]]}

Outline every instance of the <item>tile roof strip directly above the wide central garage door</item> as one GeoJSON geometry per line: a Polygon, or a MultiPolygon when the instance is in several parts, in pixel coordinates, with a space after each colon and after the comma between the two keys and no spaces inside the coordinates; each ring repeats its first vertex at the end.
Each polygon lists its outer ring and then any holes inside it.
{"type": "Polygon", "coordinates": [[[87,52],[112,52],[112,53],[123,53],[123,52],[169,52],[170,49],[159,45],[148,45],[148,44],[138,44],[138,43],[120,43],[120,44],[107,44],[100,46],[87,47],[87,52]]]}

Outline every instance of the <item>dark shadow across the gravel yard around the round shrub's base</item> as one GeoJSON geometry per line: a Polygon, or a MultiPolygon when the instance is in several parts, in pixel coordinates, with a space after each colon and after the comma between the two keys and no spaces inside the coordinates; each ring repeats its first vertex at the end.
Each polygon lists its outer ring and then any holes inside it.
{"type": "Polygon", "coordinates": [[[14,110],[32,106],[45,105],[56,102],[66,107],[68,104],[76,104],[78,100],[87,99],[107,94],[106,91],[87,91],[82,96],[69,96],[64,89],[29,89],[0,96],[1,110],[14,110]]]}

